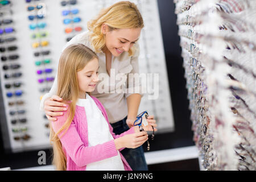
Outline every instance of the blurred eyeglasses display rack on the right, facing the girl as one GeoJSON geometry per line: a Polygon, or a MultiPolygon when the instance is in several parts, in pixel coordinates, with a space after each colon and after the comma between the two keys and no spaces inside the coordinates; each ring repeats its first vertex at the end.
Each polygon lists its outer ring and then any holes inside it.
{"type": "Polygon", "coordinates": [[[174,3],[200,162],[206,170],[255,170],[256,2],[174,3]]]}

